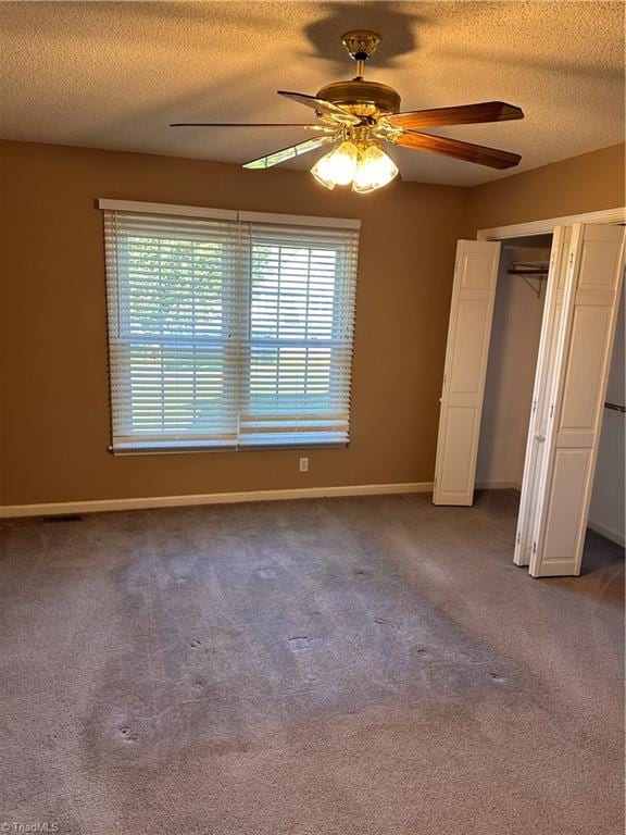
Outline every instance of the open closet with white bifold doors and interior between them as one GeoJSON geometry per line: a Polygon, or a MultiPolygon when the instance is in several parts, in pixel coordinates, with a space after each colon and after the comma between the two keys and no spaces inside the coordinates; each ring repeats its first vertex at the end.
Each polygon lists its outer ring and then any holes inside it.
{"type": "Polygon", "coordinates": [[[580,572],[623,264],[610,224],[459,241],[433,500],[521,488],[533,576],[580,572]]]}

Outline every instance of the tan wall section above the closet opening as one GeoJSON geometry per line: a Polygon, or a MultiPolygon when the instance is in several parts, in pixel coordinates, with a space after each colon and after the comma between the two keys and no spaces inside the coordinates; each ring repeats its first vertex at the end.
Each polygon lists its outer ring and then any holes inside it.
{"type": "Polygon", "coordinates": [[[508,226],[625,205],[624,145],[470,189],[471,226],[508,226]]]}

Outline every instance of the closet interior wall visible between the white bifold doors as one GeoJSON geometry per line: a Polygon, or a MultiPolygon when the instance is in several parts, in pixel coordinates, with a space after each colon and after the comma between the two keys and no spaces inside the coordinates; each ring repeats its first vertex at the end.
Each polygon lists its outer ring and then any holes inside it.
{"type": "MultiPolygon", "coordinates": [[[[551,236],[549,236],[551,237],[551,236]]],[[[547,236],[502,241],[480,423],[476,486],[521,489],[546,278],[511,275],[550,259],[547,236]]]]}

